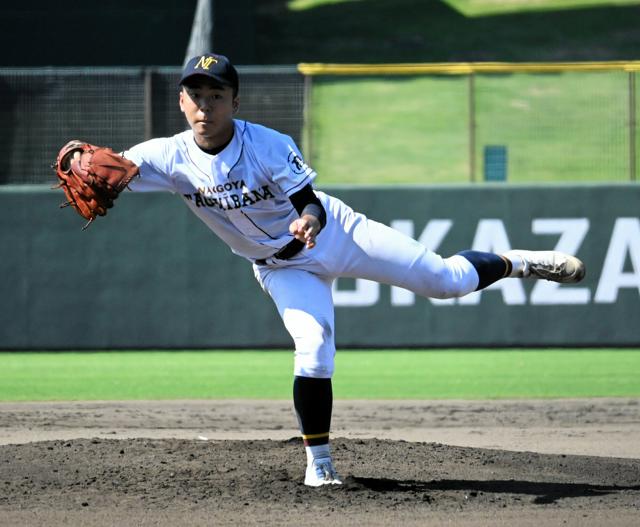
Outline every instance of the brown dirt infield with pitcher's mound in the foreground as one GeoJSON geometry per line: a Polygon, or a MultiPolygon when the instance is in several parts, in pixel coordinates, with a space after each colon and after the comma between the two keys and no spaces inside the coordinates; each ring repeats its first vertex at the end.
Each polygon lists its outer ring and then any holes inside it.
{"type": "Polygon", "coordinates": [[[0,525],[638,525],[640,401],[337,401],[340,487],[290,403],[0,404],[0,525]]]}

